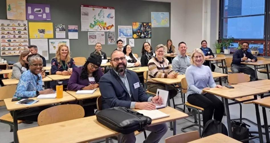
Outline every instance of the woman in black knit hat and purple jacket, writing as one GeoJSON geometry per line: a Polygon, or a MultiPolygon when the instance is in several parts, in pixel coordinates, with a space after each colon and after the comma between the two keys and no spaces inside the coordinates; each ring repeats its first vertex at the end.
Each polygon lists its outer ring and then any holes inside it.
{"type": "MultiPolygon", "coordinates": [[[[85,64],[81,67],[74,68],[69,78],[67,89],[71,91],[92,90],[99,87],[99,79],[103,75],[101,70],[101,54],[95,52],[91,54],[85,64]]],[[[85,99],[84,103],[97,101],[96,98],[85,99]]],[[[85,117],[94,115],[94,105],[84,106],[85,117]]]]}

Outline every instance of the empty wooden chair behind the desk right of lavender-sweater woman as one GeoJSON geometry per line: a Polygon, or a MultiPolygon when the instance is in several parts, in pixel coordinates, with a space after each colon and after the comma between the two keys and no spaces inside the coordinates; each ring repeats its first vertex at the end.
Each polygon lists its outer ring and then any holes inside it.
{"type": "MultiPolygon", "coordinates": [[[[229,85],[243,83],[243,82],[249,82],[249,81],[250,81],[249,75],[244,74],[244,73],[232,73],[228,76],[229,85]]],[[[249,99],[254,99],[254,97],[247,96],[247,97],[242,97],[242,98],[236,98],[236,99],[234,99],[234,101],[239,102],[239,101],[244,101],[244,100],[249,100],[249,99]]],[[[249,104],[249,103],[252,103],[252,101],[244,102],[244,104],[249,104]]],[[[248,122],[251,122],[252,124],[257,125],[255,122],[253,122],[247,118],[242,118],[242,104],[239,103],[239,105],[240,105],[240,118],[239,119],[231,119],[231,120],[240,120],[241,122],[242,122],[242,120],[247,120],[248,122]]]]}

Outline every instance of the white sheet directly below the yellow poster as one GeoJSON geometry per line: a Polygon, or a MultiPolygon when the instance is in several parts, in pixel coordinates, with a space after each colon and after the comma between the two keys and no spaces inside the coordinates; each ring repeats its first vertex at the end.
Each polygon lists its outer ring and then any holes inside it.
{"type": "Polygon", "coordinates": [[[38,47],[38,54],[49,60],[48,39],[30,39],[30,44],[36,45],[38,47]]]}

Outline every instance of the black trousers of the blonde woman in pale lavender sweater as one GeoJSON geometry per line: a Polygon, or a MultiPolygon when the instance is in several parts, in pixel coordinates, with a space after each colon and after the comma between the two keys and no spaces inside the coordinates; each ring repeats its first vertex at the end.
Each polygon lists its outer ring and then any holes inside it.
{"type": "Polygon", "coordinates": [[[203,111],[203,125],[208,120],[211,120],[214,114],[214,119],[222,121],[224,106],[223,103],[213,94],[206,93],[201,94],[190,94],[187,97],[187,101],[195,106],[202,107],[203,111]]]}

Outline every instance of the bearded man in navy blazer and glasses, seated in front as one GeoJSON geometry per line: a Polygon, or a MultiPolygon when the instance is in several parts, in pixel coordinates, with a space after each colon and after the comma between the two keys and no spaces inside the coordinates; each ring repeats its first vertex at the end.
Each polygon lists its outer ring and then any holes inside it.
{"type": "MultiPolygon", "coordinates": [[[[102,109],[111,107],[126,107],[130,109],[156,109],[156,104],[161,104],[161,97],[151,97],[144,92],[137,74],[126,70],[125,55],[120,50],[114,50],[111,54],[112,69],[103,75],[99,81],[102,96],[102,109]]],[[[159,124],[147,127],[151,131],[145,143],[157,143],[167,132],[167,124],[159,124]]],[[[134,132],[123,134],[122,143],[135,143],[134,132]]]]}

